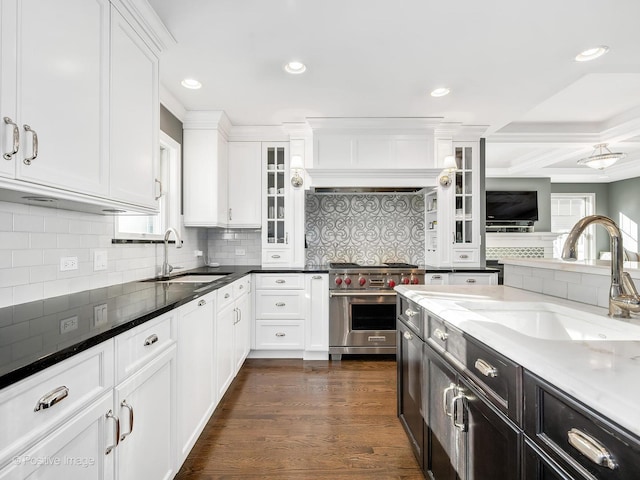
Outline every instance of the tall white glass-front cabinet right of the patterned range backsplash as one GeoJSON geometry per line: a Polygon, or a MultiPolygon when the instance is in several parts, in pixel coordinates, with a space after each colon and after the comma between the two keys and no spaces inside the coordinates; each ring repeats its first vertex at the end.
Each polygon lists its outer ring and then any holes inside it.
{"type": "Polygon", "coordinates": [[[453,142],[456,170],[451,184],[425,196],[426,263],[480,266],[480,148],[478,142],[453,142]]]}

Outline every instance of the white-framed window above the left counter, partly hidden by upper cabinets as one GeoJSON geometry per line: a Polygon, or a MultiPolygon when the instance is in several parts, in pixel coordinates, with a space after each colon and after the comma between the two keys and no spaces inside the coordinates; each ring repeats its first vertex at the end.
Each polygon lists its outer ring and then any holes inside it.
{"type": "Polygon", "coordinates": [[[123,215],[116,217],[115,238],[162,240],[168,227],[181,231],[180,221],[180,144],[160,132],[157,215],[123,215]]]}

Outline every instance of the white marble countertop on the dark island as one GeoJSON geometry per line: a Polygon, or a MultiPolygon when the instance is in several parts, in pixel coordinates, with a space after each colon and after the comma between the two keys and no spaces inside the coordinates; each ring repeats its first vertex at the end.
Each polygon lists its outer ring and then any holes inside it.
{"type": "Polygon", "coordinates": [[[501,285],[398,286],[396,291],[640,436],[640,341],[627,340],[640,339],[637,317],[616,323],[601,307],[501,285]],[[506,302],[514,308],[504,308],[506,302]],[[530,309],[532,302],[544,302],[581,321],[602,319],[612,327],[605,330],[607,339],[598,340],[551,339],[551,331],[541,335],[546,338],[526,335],[526,328],[518,327],[523,320],[516,309],[530,309]],[[502,305],[503,320],[490,321],[491,312],[483,311],[484,305],[502,305]],[[511,328],[505,326],[510,317],[511,328]]]}

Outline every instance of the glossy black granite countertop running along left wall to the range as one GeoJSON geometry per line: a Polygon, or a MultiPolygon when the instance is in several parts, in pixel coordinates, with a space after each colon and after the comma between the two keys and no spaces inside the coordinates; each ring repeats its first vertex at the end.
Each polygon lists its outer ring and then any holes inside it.
{"type": "Polygon", "coordinates": [[[176,273],[225,274],[211,283],[152,280],[61,295],[0,309],[0,388],[119,335],[250,273],[326,273],[324,266],[263,268],[254,265],[200,267],[176,273]],[[107,305],[95,325],[94,308],[107,305]],[[62,320],[77,317],[77,328],[61,333],[62,320]]]}

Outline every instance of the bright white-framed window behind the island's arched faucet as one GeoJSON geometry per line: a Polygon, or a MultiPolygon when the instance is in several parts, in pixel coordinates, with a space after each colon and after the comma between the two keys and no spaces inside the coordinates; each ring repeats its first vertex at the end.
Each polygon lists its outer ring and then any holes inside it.
{"type": "MultiPolygon", "coordinates": [[[[578,220],[593,215],[596,205],[595,193],[552,193],[551,231],[562,234],[554,244],[554,257],[559,258],[567,234],[578,220]]],[[[596,258],[595,225],[587,227],[578,240],[578,259],[596,258]]]]}

